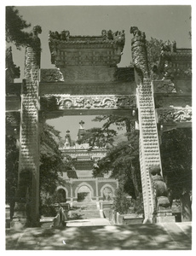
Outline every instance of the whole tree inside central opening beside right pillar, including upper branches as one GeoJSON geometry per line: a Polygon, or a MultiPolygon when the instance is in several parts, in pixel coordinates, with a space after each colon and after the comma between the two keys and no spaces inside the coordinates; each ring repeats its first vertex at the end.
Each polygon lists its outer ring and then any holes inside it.
{"type": "Polygon", "coordinates": [[[131,195],[133,200],[141,196],[138,133],[134,129],[134,124],[126,117],[103,115],[94,120],[105,120],[102,128],[99,128],[99,135],[95,132],[97,128],[90,129],[87,131],[87,136],[84,135],[80,142],[89,143],[95,140],[98,143],[93,143],[92,146],[94,146],[101,145],[100,142],[104,140],[104,145],[110,144],[106,157],[95,163],[93,174],[95,177],[100,177],[110,173],[111,177],[118,179],[119,189],[116,191],[114,207],[116,206],[115,210],[119,212],[127,212],[133,203],[126,199],[127,195],[131,195]],[[114,145],[114,135],[117,131],[113,132],[111,137],[105,134],[106,131],[111,131],[110,125],[117,125],[118,131],[125,127],[127,140],[114,145]],[[118,201],[121,203],[119,204],[118,201]]]}

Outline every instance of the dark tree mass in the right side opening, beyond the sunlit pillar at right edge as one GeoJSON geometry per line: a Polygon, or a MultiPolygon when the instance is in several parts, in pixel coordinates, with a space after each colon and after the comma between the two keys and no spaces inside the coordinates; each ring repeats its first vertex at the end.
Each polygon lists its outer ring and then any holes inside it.
{"type": "Polygon", "coordinates": [[[164,132],[160,146],[163,174],[172,199],[182,201],[182,218],[191,220],[192,130],[164,132]]]}

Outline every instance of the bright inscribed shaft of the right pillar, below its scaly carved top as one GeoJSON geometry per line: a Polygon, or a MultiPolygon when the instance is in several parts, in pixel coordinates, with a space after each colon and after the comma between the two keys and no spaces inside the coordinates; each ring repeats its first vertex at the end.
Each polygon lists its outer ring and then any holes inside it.
{"type": "Polygon", "coordinates": [[[145,221],[153,222],[153,190],[149,166],[161,166],[159,137],[153,104],[153,91],[150,79],[144,79],[137,88],[138,116],[140,127],[141,184],[144,201],[145,221]]]}

